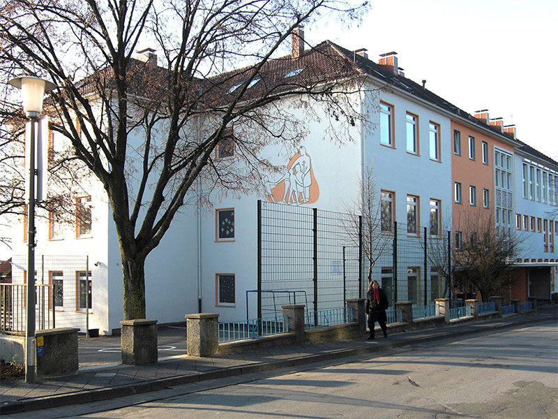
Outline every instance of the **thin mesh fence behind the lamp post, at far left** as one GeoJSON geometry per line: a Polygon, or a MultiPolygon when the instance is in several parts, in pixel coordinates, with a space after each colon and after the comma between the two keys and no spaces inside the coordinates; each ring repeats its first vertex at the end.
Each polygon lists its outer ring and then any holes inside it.
{"type": "MultiPolygon", "coordinates": [[[[36,330],[86,330],[95,295],[89,258],[36,255],[35,270],[36,330]]],[[[13,256],[11,284],[0,287],[2,332],[20,334],[25,331],[28,305],[25,288],[27,256],[13,256]]]]}

